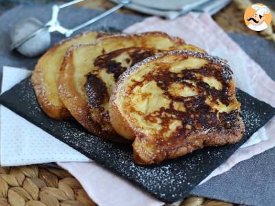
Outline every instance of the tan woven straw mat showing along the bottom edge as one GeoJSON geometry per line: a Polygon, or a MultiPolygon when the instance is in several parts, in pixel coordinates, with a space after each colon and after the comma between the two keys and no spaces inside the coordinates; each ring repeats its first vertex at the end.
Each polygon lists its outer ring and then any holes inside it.
{"type": "MultiPolygon", "coordinates": [[[[80,183],[61,168],[47,165],[0,167],[1,206],[94,206],[80,183]]],[[[173,206],[233,206],[191,196],[173,206]]],[[[170,205],[171,206],[171,205],[170,205]]]]}

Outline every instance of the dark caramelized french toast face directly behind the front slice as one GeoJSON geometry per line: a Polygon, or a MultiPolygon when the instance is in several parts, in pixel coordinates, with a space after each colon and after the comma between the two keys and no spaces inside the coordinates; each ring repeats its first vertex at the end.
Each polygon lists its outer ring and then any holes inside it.
{"type": "MultiPolygon", "coordinates": [[[[202,50],[193,45],[179,45],[181,49],[202,50]]],[[[94,69],[87,74],[85,89],[88,98],[89,115],[105,130],[113,131],[109,118],[109,98],[118,77],[149,56],[164,52],[157,49],[129,47],[102,54],[94,60],[94,69]]]]}

